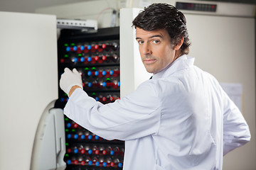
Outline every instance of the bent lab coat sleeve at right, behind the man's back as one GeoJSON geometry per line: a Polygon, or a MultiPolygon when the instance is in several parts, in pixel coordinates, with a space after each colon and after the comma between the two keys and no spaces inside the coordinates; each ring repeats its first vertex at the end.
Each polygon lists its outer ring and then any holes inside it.
{"type": "Polygon", "coordinates": [[[224,91],[223,104],[223,155],[225,155],[249,142],[250,130],[240,110],[224,91]]]}

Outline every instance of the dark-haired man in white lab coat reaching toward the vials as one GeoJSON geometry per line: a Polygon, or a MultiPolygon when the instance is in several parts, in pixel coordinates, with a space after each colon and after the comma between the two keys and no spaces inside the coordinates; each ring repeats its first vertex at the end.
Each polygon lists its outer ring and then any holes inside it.
{"type": "Polygon", "coordinates": [[[223,155],[248,142],[250,131],[218,81],[186,56],[185,16],[174,6],[152,4],[133,26],[152,79],[103,105],[82,91],[76,69],[65,69],[65,115],[96,135],[124,140],[124,170],[222,169],[223,155]]]}

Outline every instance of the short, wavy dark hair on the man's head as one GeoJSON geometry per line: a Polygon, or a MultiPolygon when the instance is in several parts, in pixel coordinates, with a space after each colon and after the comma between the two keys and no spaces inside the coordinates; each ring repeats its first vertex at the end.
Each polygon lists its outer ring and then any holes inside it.
{"type": "Polygon", "coordinates": [[[189,45],[186,18],[177,8],[170,4],[151,4],[144,8],[132,21],[132,26],[143,30],[165,29],[171,38],[171,43],[176,45],[183,37],[181,54],[188,54],[189,45]]]}

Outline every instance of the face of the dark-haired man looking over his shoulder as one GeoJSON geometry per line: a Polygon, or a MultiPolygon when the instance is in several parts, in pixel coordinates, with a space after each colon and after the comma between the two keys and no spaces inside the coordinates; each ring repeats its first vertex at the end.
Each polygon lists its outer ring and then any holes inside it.
{"type": "Polygon", "coordinates": [[[146,31],[136,28],[136,40],[147,72],[156,74],[174,61],[174,45],[171,45],[166,30],[146,31]]]}

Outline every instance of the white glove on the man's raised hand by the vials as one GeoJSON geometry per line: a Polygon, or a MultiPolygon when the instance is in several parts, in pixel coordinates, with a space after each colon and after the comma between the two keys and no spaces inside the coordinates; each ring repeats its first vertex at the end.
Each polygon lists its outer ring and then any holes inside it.
{"type": "Polygon", "coordinates": [[[64,73],[60,77],[60,89],[62,89],[66,94],[69,93],[73,86],[80,86],[82,88],[82,77],[77,69],[73,69],[73,72],[65,68],[64,73]]]}

